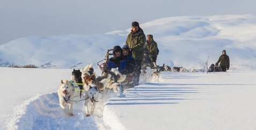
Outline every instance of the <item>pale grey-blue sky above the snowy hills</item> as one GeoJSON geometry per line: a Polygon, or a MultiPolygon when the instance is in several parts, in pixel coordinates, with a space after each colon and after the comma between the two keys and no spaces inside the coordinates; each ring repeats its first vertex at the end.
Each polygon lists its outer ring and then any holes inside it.
{"type": "Polygon", "coordinates": [[[103,34],[166,17],[256,14],[252,0],[0,1],[0,44],[26,36],[103,34]]]}

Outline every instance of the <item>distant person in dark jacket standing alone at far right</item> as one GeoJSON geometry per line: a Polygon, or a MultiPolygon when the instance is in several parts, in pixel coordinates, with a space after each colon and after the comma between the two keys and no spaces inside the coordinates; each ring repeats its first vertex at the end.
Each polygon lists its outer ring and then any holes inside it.
{"type": "Polygon", "coordinates": [[[220,58],[218,58],[218,61],[216,62],[215,66],[218,66],[218,63],[220,63],[223,72],[229,70],[229,56],[226,55],[225,50],[222,51],[222,55],[220,56],[220,58]]]}

